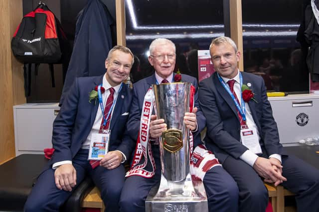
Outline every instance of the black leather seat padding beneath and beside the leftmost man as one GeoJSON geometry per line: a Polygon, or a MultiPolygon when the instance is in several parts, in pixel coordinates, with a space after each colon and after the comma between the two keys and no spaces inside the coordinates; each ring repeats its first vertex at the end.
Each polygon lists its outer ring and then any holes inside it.
{"type": "MultiPolygon", "coordinates": [[[[23,211],[24,203],[46,162],[43,154],[21,154],[0,165],[0,211],[23,211]]],[[[73,191],[60,212],[80,212],[82,200],[93,187],[92,180],[87,177],[73,191]]]]}

